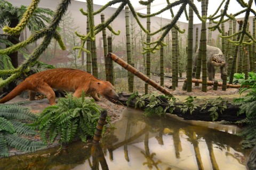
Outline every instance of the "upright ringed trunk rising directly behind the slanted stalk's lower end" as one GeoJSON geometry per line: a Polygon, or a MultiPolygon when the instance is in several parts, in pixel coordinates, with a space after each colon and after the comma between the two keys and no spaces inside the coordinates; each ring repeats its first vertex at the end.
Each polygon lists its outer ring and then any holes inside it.
{"type": "Polygon", "coordinates": [[[172,90],[176,89],[176,58],[175,58],[175,52],[176,52],[176,34],[175,29],[172,28],[172,90]]]}

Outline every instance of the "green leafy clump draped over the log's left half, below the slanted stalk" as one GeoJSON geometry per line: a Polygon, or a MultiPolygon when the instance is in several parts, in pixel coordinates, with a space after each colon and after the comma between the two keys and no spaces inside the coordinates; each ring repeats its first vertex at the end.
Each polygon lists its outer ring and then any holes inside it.
{"type": "Polygon", "coordinates": [[[145,116],[151,116],[155,114],[158,116],[162,116],[165,115],[166,112],[173,112],[175,101],[176,99],[174,97],[168,97],[158,94],[157,92],[152,92],[150,94],[137,97],[135,108],[138,106],[140,108],[145,107],[145,116]],[[146,106],[145,103],[147,104],[146,106]],[[167,104],[163,105],[163,103],[167,104]],[[162,107],[161,105],[164,107],[162,107]]]}

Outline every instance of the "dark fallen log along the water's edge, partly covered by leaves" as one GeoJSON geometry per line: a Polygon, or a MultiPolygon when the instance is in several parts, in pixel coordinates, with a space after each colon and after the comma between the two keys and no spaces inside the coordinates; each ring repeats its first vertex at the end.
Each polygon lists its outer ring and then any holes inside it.
{"type": "MultiPolygon", "coordinates": [[[[119,102],[122,104],[122,105],[126,105],[126,101],[127,99],[130,97],[129,94],[124,94],[124,93],[121,93],[121,94],[118,94],[119,95],[119,102]]],[[[136,103],[136,99],[132,99],[131,102],[130,102],[130,105],[129,107],[133,107],[135,108],[135,103],[136,103]]],[[[147,105],[147,102],[145,102],[145,107],[147,105]]],[[[161,106],[163,108],[166,107],[167,102],[163,101],[163,103],[161,104],[161,106]]],[[[176,103],[175,106],[180,106],[181,103],[176,103]]],[[[142,107],[141,109],[145,109],[145,107],[142,107]]],[[[183,113],[181,111],[181,109],[179,107],[175,107],[174,111],[172,114],[175,114],[179,117],[182,117],[184,118],[185,120],[195,120],[195,121],[212,121],[212,118],[211,118],[211,112],[209,111],[209,108],[206,108],[206,109],[203,109],[201,111],[201,108],[202,107],[197,107],[195,109],[195,111],[190,114],[189,111],[187,111],[186,113],[183,113]]],[[[239,110],[239,106],[238,105],[234,105],[234,104],[231,104],[231,103],[227,103],[227,108],[225,109],[225,111],[222,112],[222,114],[219,113],[219,118],[218,120],[216,121],[231,121],[231,122],[236,122],[236,121],[239,121],[239,120],[243,120],[246,115],[245,114],[242,114],[242,115],[239,115],[237,116],[237,112],[239,110]]]]}

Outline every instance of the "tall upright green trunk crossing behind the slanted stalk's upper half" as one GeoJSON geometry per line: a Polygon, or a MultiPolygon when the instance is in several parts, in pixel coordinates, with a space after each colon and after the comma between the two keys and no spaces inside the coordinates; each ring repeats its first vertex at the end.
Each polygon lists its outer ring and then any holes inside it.
{"type": "MultiPolygon", "coordinates": [[[[126,27],[126,53],[127,53],[127,63],[131,65],[132,57],[131,57],[131,38],[130,38],[130,22],[129,22],[129,7],[125,6],[125,27],[126,27]]],[[[133,84],[131,80],[131,73],[128,72],[128,87],[129,92],[133,92],[133,84]]]]}

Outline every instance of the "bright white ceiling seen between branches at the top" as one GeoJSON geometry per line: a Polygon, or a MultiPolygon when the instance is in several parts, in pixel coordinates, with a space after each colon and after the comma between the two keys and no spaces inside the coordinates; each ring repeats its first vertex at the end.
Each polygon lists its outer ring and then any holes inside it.
{"type": "MultiPolygon", "coordinates": [[[[75,0],[75,1],[86,2],[85,0],[75,0]]],[[[174,1],[175,0],[170,0],[170,2],[174,2],[174,1]]],[[[107,0],[105,0],[105,1],[103,1],[103,0],[93,0],[93,3],[97,4],[97,5],[105,5],[108,2],[109,1],[107,1],[107,0]]],[[[140,12],[140,13],[144,13],[144,14],[147,13],[147,6],[140,5],[139,0],[130,0],[130,2],[132,3],[135,11],[140,12]]],[[[218,6],[221,2],[222,2],[222,0],[209,0],[208,14],[209,15],[213,14],[217,10],[217,8],[218,8],[218,6]]],[[[245,0],[245,2],[246,2],[246,0],[245,0]]],[[[201,13],[201,2],[194,1],[194,3],[197,6],[198,11],[201,13]]],[[[155,12],[161,10],[166,5],[167,5],[166,0],[154,1],[151,4],[151,13],[155,13],[155,12]]],[[[112,5],[111,7],[117,8],[118,6],[119,6],[119,4],[115,4],[115,5],[112,5]]],[[[225,6],[225,3],[222,4],[221,8],[223,8],[224,6],[225,6]]],[[[174,14],[178,12],[179,7],[180,7],[180,5],[173,8],[174,14]]],[[[256,11],[255,3],[253,3],[252,8],[256,11]]],[[[241,11],[241,10],[243,10],[243,8],[237,3],[237,1],[235,1],[235,0],[230,1],[229,8],[228,8],[228,14],[230,14],[230,13],[234,14],[234,13],[236,13],[238,11],[241,11]]],[[[169,10],[165,11],[162,14],[159,14],[157,16],[162,17],[162,18],[166,18],[166,19],[172,19],[171,18],[171,13],[170,13],[169,10]]],[[[251,14],[251,16],[253,16],[253,15],[251,14]]],[[[244,17],[244,13],[237,16],[237,18],[243,18],[243,17],[244,17]]],[[[186,16],[185,16],[184,13],[181,15],[179,21],[188,22],[186,20],[186,16]]],[[[197,18],[196,15],[194,15],[194,24],[196,24],[196,23],[201,23],[201,21],[197,18]]]]}

